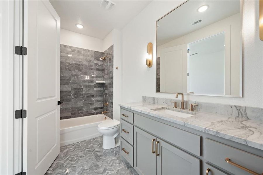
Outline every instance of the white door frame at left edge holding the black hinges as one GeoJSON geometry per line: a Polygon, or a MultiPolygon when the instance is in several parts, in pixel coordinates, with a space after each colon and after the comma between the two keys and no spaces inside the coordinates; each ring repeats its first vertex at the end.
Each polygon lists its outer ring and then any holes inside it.
{"type": "Polygon", "coordinates": [[[22,56],[15,46],[23,41],[23,0],[0,1],[0,174],[22,171],[22,56]]]}

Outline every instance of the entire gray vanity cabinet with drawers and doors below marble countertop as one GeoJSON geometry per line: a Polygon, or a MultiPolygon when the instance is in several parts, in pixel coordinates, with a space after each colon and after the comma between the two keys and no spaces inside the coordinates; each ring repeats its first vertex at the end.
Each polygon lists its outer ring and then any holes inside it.
{"type": "Polygon", "coordinates": [[[261,150],[131,109],[121,108],[120,132],[121,156],[140,175],[263,175],[261,150]]]}

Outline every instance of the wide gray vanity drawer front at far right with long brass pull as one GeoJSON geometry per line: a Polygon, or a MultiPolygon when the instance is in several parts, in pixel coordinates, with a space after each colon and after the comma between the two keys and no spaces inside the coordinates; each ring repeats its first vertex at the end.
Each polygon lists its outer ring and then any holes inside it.
{"type": "Polygon", "coordinates": [[[241,169],[241,166],[255,171],[258,174],[263,173],[263,157],[247,153],[243,150],[210,139],[205,139],[204,150],[205,159],[208,162],[233,174],[250,175],[250,173],[241,169]],[[226,158],[230,159],[230,163],[226,162],[226,158]],[[231,164],[231,162],[235,163],[236,166],[231,164]]]}

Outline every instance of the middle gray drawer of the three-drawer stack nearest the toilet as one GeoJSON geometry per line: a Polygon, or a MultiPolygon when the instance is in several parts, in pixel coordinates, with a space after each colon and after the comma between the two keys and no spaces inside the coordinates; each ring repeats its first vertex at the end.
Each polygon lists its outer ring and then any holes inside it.
{"type": "Polygon", "coordinates": [[[121,119],[120,135],[133,145],[133,125],[121,119]]]}

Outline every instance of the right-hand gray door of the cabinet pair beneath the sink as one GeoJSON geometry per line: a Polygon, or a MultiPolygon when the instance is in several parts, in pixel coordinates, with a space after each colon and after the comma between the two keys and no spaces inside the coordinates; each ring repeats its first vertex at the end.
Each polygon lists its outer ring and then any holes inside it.
{"type": "Polygon", "coordinates": [[[158,141],[157,175],[200,175],[200,159],[159,138],[158,141]]]}

